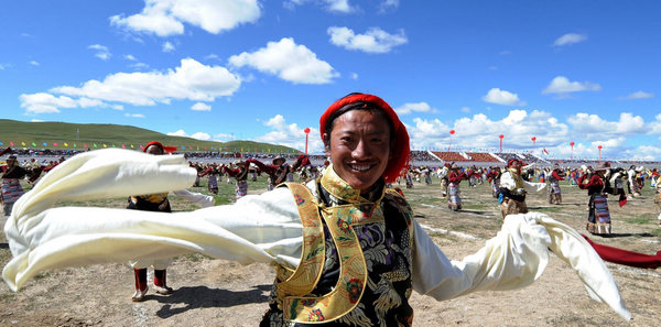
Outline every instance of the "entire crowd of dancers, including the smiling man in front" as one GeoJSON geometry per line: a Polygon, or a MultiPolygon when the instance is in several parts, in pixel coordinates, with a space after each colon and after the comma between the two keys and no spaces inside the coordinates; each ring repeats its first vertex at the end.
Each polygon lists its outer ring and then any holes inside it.
{"type": "MultiPolygon", "coordinates": [[[[636,197],[648,179],[659,186],[655,170],[631,167],[632,173],[625,174],[605,163],[585,168],[542,167],[517,157],[505,167],[410,165],[405,126],[386,101],[365,94],[333,102],[321,118],[319,130],[329,160],[324,155],[324,164],[317,166],[306,155],[289,157],[291,165],[288,157],[279,155],[268,156],[267,163],[264,157],[196,163],[188,161],[191,157],[162,155],[171,149],[159,142],[148,144],[143,149],[147,154],[109,149],[59,163],[52,171],[57,173],[45,174],[40,185],[57,181],[76,187],[53,190],[37,185],[18,199],[6,226],[14,258],[3,277],[15,291],[48,266],[127,260],[134,262],[132,298],[143,301],[149,265],[155,270],[155,291],[170,294],[173,288],[165,282],[169,259],[195,251],[241,263],[264,262],[275,269],[260,326],[411,326],[409,298],[413,291],[445,301],[476,291],[522,287],[541,275],[552,251],[578,273],[595,298],[629,319],[615,280],[592,247],[573,228],[543,214],[528,212],[525,195],[548,187],[550,203],[561,205],[556,182],[575,181],[590,196],[587,229],[608,233],[606,194],[621,196],[618,186],[624,190],[631,185],[626,200],[636,197]],[[75,173],[90,166],[121,173],[111,177],[75,173]],[[248,181],[257,174],[268,175],[269,190],[247,195],[248,181]],[[170,214],[169,192],[188,188],[206,177],[209,192],[215,193],[225,176],[236,185],[234,204],[170,214]],[[611,182],[613,176],[619,179],[611,182]],[[462,210],[462,181],[468,181],[469,187],[489,183],[501,207],[501,231],[460,261],[446,258],[413,219],[403,193],[394,189],[401,179],[407,187],[414,187],[416,182],[434,184],[434,178],[451,210],[462,210]],[[108,208],[50,208],[61,198],[126,194],[139,195],[129,197],[129,208],[134,210],[122,215],[108,208]],[[90,214],[95,219],[86,219],[90,214]],[[24,224],[36,221],[35,216],[37,222],[24,224]],[[35,228],[48,232],[34,233],[35,228]],[[107,238],[113,241],[102,242],[107,238]],[[55,240],[59,241],[57,248],[44,248],[55,240]],[[150,249],[128,247],[134,243],[150,249]]],[[[11,189],[12,181],[22,177],[8,173],[14,164],[8,160],[7,170],[3,167],[3,200],[4,179],[11,189]]]]}

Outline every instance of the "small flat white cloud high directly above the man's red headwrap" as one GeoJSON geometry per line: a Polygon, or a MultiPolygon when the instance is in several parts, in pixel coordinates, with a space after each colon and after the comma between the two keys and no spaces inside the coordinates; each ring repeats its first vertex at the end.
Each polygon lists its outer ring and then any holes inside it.
{"type": "Polygon", "coordinates": [[[379,28],[371,28],[365,34],[355,34],[348,28],[330,26],[327,33],[334,45],[367,53],[388,53],[393,47],[409,42],[403,30],[398,34],[390,34],[379,28]]]}

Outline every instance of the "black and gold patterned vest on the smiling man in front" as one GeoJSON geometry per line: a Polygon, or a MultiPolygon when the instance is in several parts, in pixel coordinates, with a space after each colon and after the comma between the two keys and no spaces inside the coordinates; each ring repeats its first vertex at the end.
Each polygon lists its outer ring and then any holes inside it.
{"type": "Polygon", "coordinates": [[[303,224],[301,263],[277,268],[260,326],[410,326],[412,210],[404,198],[382,181],[362,197],[332,166],[307,187],[285,185],[303,224]]]}

